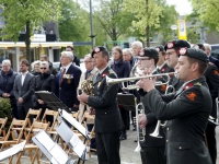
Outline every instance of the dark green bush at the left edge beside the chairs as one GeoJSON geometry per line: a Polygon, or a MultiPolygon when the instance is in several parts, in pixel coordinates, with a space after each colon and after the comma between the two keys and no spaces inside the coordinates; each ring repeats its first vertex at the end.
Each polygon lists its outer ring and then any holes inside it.
{"type": "Polygon", "coordinates": [[[5,127],[9,128],[12,120],[10,99],[0,97],[0,118],[5,118],[5,117],[8,117],[5,127]]]}

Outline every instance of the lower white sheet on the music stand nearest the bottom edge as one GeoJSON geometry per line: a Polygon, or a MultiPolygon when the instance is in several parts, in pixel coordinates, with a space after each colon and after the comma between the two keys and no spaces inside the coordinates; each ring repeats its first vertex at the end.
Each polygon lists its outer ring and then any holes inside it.
{"type": "Polygon", "coordinates": [[[68,155],[58,144],[54,145],[54,148],[50,150],[50,154],[56,159],[59,164],[66,164],[66,162],[68,161],[68,155]]]}

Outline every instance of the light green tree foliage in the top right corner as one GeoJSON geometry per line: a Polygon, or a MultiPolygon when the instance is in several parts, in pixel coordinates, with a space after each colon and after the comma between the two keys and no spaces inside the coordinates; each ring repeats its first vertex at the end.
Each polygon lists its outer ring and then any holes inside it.
{"type": "Polygon", "coordinates": [[[211,30],[219,31],[219,3],[218,0],[189,0],[198,20],[208,24],[211,30]]]}

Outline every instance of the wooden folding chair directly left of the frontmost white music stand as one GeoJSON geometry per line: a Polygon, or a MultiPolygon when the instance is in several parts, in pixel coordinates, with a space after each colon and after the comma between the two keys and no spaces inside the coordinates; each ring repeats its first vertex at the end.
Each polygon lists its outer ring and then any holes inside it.
{"type": "Polygon", "coordinates": [[[33,125],[31,126],[31,130],[28,131],[28,134],[26,137],[26,144],[22,153],[19,154],[16,163],[21,163],[21,157],[23,159],[30,159],[31,164],[34,164],[35,160],[37,159],[37,163],[39,164],[41,160],[38,157],[38,147],[35,145],[34,143],[30,143],[33,133],[38,132],[39,130],[46,130],[48,129],[49,122],[38,122],[34,121],[33,125]],[[28,151],[28,156],[24,156],[25,151],[28,151]],[[35,151],[35,154],[32,154],[32,151],[35,151]]]}

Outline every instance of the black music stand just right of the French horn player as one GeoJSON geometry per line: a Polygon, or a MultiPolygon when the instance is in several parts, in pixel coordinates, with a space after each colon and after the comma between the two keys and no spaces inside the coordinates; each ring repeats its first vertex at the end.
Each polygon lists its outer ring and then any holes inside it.
{"type": "Polygon", "coordinates": [[[122,105],[126,110],[136,110],[135,98],[134,94],[117,94],[118,105],[122,105]]]}

